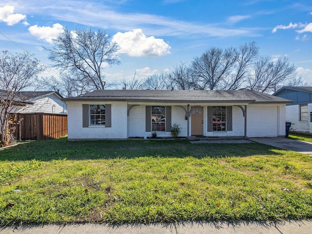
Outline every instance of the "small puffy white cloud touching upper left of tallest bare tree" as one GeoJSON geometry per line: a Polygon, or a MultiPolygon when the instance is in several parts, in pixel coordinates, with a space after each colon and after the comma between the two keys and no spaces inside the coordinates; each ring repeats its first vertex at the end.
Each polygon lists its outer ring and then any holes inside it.
{"type": "Polygon", "coordinates": [[[39,27],[38,25],[33,25],[29,27],[28,31],[31,33],[31,35],[39,37],[39,39],[53,43],[53,39],[56,39],[59,34],[64,31],[64,28],[59,23],[55,23],[52,27],[39,27]]]}

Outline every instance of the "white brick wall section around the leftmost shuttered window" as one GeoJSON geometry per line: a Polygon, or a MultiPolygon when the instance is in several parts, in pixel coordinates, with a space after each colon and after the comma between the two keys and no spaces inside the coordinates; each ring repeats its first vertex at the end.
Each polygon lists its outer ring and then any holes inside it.
{"type": "Polygon", "coordinates": [[[124,139],[127,138],[127,104],[112,104],[112,127],[82,127],[82,104],[105,104],[90,102],[68,104],[68,140],[75,139],[124,139]]]}

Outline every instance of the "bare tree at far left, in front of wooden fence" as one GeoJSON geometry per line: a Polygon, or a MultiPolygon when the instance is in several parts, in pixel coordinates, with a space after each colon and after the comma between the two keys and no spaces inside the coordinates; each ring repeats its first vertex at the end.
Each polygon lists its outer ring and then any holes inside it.
{"type": "Polygon", "coordinates": [[[10,112],[14,112],[28,97],[20,96],[20,91],[37,83],[43,72],[43,64],[28,52],[15,55],[4,51],[0,56],[0,135],[2,146],[8,145],[12,137],[10,112]]]}

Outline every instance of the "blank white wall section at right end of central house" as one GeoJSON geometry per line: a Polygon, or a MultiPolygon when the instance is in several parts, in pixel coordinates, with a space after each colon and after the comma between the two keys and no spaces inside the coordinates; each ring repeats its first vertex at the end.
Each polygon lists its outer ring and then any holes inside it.
{"type": "MultiPolygon", "coordinates": [[[[278,137],[278,106],[247,106],[247,137],[278,137]]],[[[284,134],[285,135],[285,134],[284,134]]]]}

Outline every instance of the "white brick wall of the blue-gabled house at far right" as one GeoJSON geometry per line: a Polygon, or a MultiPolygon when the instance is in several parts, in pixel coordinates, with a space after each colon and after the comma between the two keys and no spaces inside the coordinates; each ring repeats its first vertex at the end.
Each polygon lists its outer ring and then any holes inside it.
{"type": "MultiPolygon", "coordinates": [[[[312,112],[312,103],[308,104],[308,120],[312,112]]],[[[291,131],[294,132],[310,132],[309,121],[300,121],[300,105],[286,106],[286,121],[291,122],[291,131]]]]}

